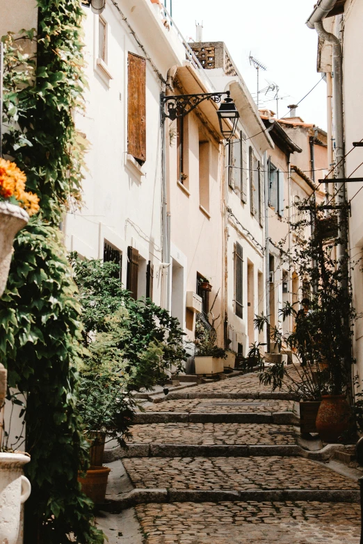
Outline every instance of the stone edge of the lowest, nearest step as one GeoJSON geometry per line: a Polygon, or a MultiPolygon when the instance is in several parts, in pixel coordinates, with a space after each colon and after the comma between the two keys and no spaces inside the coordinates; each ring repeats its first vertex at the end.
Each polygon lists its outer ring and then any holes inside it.
{"type": "Polygon", "coordinates": [[[165,502],[265,502],[265,501],[317,501],[360,502],[360,491],[353,489],[268,489],[228,491],[214,489],[134,489],[122,495],[107,495],[102,510],[120,512],[138,504],[165,502]]]}

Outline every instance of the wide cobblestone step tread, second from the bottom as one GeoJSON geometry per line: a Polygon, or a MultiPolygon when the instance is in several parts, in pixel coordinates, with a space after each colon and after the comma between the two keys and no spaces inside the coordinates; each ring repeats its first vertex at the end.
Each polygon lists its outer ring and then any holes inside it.
{"type": "Polygon", "coordinates": [[[137,488],[357,489],[358,484],[301,457],[172,457],[124,459],[137,488]]]}

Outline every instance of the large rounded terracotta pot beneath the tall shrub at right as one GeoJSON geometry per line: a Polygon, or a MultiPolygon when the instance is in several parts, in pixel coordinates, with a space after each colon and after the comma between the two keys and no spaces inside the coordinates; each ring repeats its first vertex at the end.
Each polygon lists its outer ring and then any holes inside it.
{"type": "Polygon", "coordinates": [[[346,395],[322,396],[316,416],[316,430],[323,442],[337,443],[341,434],[348,430],[349,420],[350,408],[346,395]]]}

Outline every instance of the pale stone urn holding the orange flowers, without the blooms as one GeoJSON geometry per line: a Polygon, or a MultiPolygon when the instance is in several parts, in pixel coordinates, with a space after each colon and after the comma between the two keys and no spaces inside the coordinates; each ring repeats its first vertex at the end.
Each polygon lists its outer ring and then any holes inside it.
{"type": "MultiPolygon", "coordinates": [[[[20,206],[0,202],[0,297],[8,281],[15,234],[28,221],[29,215],[20,206]]],[[[1,541],[0,544],[2,544],[1,541]]]]}

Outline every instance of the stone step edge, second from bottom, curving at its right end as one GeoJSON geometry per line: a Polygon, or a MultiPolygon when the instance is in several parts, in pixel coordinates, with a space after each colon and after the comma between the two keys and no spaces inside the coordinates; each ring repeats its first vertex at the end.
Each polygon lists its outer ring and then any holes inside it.
{"type": "Polygon", "coordinates": [[[104,463],[132,457],[304,457],[312,461],[329,461],[344,445],[329,444],[321,450],[304,450],[298,444],[290,445],[198,445],[198,444],[129,444],[104,452],[104,463]]]}

